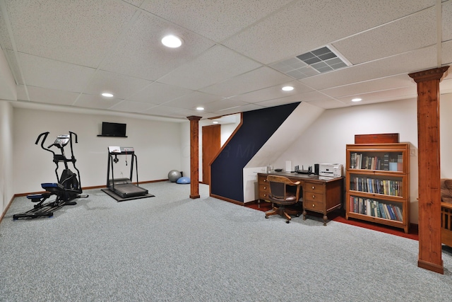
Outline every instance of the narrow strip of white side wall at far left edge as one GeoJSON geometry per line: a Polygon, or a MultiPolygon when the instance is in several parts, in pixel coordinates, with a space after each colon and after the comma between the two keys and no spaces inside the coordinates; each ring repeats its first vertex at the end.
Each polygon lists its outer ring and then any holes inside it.
{"type": "Polygon", "coordinates": [[[13,108],[0,100],[0,216],[14,195],[13,108]]]}

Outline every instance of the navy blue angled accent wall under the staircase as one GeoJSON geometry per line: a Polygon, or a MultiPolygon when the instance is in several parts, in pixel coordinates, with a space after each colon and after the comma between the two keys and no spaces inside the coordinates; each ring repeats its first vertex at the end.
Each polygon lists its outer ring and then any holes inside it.
{"type": "Polygon", "coordinates": [[[210,193],[243,202],[243,168],[299,103],[243,113],[242,127],[210,166],[210,193]]]}

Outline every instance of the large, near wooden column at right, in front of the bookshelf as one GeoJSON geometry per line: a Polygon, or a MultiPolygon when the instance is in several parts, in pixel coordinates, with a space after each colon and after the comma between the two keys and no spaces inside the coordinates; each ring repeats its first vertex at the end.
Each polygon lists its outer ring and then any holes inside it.
{"type": "Polygon", "coordinates": [[[419,257],[417,266],[444,274],[441,259],[439,82],[446,67],[409,74],[417,83],[419,257]]]}

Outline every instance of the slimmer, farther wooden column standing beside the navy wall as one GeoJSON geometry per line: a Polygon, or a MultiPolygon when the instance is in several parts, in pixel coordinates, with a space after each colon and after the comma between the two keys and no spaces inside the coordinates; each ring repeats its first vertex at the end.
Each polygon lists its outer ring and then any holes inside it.
{"type": "Polygon", "coordinates": [[[186,117],[190,121],[190,198],[199,198],[199,120],[201,117],[186,117]]]}

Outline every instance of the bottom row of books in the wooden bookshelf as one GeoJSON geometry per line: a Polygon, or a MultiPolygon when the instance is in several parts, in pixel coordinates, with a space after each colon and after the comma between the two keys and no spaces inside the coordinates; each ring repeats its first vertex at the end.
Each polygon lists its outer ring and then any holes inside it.
{"type": "Polygon", "coordinates": [[[350,196],[350,211],[394,221],[403,221],[402,209],[375,199],[350,196]]]}

